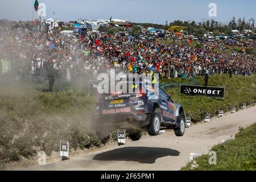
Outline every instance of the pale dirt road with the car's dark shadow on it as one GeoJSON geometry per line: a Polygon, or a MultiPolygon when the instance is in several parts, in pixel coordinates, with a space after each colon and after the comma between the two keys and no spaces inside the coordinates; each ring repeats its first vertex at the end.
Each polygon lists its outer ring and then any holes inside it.
{"type": "Polygon", "coordinates": [[[191,152],[208,154],[212,146],[231,138],[240,126],[253,123],[256,123],[256,106],[189,127],[184,137],[168,132],[137,142],[129,140],[125,146],[21,170],[179,170],[188,162],[191,152]]]}

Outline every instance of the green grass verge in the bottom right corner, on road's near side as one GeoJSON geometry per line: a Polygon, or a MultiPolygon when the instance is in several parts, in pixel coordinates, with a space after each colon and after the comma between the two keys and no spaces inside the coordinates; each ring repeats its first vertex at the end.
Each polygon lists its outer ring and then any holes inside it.
{"type": "Polygon", "coordinates": [[[226,170],[256,170],[256,124],[240,128],[240,132],[236,134],[234,140],[228,140],[225,143],[218,144],[210,151],[215,151],[217,154],[217,164],[210,165],[208,163],[209,155],[202,155],[196,158],[199,167],[191,169],[191,163],[181,168],[181,170],[198,170],[198,171],[226,171],[226,170]]]}

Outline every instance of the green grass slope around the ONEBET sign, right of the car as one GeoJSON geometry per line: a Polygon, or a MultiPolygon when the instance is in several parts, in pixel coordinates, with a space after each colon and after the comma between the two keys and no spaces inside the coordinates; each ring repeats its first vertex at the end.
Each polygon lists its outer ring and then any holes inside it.
{"type": "MultiPolygon", "coordinates": [[[[188,80],[177,78],[179,82],[189,84],[188,80]]],[[[167,82],[167,80],[166,80],[167,82]]],[[[174,82],[173,79],[170,82],[174,82]]],[[[199,85],[204,84],[204,77],[197,77],[199,85]]],[[[225,86],[225,99],[214,100],[201,96],[184,96],[179,94],[179,88],[166,89],[172,99],[183,105],[187,117],[191,117],[192,122],[200,122],[204,115],[209,113],[211,117],[217,114],[218,110],[229,111],[232,106],[241,108],[243,102],[247,105],[254,104],[256,101],[256,78],[233,75],[211,75],[208,86],[225,86]]]]}

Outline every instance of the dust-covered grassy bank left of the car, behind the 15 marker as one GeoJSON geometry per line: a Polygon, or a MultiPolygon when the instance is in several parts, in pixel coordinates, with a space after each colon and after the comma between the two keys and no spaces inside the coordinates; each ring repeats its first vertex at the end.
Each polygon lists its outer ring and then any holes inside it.
{"type": "Polygon", "coordinates": [[[43,93],[20,84],[5,86],[0,88],[0,165],[33,158],[40,150],[51,155],[61,140],[73,149],[101,146],[90,133],[95,98],[76,90],[43,93]]]}

